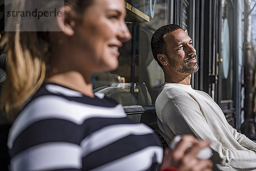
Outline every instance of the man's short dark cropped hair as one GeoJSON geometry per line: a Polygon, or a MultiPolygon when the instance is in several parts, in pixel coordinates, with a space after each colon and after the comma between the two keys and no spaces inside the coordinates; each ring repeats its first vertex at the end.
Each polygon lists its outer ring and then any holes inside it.
{"type": "Polygon", "coordinates": [[[163,40],[163,36],[169,32],[174,32],[177,29],[181,29],[177,24],[168,24],[160,27],[157,31],[154,32],[151,38],[151,50],[154,56],[154,59],[162,67],[163,65],[157,58],[157,54],[167,55],[166,42],[163,40]]]}

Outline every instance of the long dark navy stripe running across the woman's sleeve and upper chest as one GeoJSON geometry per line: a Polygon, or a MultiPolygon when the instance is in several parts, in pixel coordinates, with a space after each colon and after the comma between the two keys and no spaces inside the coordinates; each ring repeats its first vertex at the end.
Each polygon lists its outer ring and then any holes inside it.
{"type": "Polygon", "coordinates": [[[63,119],[44,119],[23,130],[13,144],[11,157],[34,145],[46,142],[71,142],[80,144],[81,140],[96,130],[109,125],[134,124],[125,118],[90,118],[82,125],[63,119]]]}

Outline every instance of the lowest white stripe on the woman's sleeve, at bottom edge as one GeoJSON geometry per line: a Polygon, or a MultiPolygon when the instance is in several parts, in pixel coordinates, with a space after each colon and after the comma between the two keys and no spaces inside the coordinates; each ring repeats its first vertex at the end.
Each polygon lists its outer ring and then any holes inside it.
{"type": "Polygon", "coordinates": [[[81,164],[81,147],[67,142],[45,143],[28,148],[11,159],[11,171],[42,171],[61,168],[78,168],[81,164]]]}

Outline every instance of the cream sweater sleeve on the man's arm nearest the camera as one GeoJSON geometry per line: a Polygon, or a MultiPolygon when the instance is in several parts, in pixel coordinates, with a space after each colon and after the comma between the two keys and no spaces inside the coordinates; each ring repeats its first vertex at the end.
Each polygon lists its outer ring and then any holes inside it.
{"type": "MultiPolygon", "coordinates": [[[[216,164],[216,170],[226,171],[230,170],[230,167],[244,171],[256,169],[255,150],[247,150],[246,148],[244,148],[245,150],[233,150],[223,147],[221,142],[218,141],[221,137],[215,137],[212,132],[219,131],[220,128],[216,126],[215,130],[210,129],[200,106],[194,99],[183,95],[169,99],[163,106],[160,117],[167,136],[173,132],[175,135],[192,134],[198,139],[211,140],[212,160],[216,164]]],[[[234,132],[234,136],[241,145],[248,142],[245,137],[239,136],[237,132],[234,132]]],[[[253,144],[248,143],[248,147],[249,149],[252,148],[253,144]]]]}

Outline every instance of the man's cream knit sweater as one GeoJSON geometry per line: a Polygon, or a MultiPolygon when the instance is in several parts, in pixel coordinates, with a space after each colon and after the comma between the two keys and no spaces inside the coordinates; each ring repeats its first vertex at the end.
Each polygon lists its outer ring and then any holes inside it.
{"type": "Polygon", "coordinates": [[[256,143],[230,126],[221,108],[191,85],[165,83],[156,100],[160,134],[169,143],[175,135],[209,139],[215,171],[256,171],[256,143]]]}

